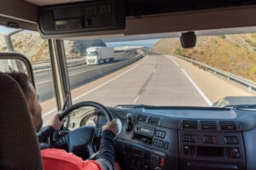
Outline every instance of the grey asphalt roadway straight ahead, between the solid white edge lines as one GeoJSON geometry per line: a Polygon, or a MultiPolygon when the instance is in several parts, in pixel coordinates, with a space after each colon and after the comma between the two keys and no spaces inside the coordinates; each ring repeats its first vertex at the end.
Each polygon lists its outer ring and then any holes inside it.
{"type": "Polygon", "coordinates": [[[163,55],[149,55],[141,64],[103,86],[90,90],[90,93],[81,92],[73,98],[73,103],[92,100],[108,106],[209,106],[205,97],[172,59],[163,55]]]}

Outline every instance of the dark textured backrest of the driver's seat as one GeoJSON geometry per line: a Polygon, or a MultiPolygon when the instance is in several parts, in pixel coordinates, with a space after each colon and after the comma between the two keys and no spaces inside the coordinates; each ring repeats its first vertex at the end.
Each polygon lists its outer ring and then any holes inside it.
{"type": "Polygon", "coordinates": [[[38,139],[20,86],[0,72],[0,169],[44,169],[38,139]]]}

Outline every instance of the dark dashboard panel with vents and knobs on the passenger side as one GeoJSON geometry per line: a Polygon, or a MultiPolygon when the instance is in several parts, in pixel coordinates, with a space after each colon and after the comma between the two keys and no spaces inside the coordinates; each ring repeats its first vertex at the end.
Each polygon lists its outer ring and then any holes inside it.
{"type": "Polygon", "coordinates": [[[179,122],[181,169],[245,169],[245,150],[239,122],[179,122]]]}

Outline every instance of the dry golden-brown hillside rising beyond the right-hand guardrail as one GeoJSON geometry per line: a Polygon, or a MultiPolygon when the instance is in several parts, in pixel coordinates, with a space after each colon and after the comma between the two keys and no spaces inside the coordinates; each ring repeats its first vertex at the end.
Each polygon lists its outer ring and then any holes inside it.
{"type": "Polygon", "coordinates": [[[256,82],[256,34],[197,37],[195,48],[181,48],[179,38],[162,39],[152,49],[178,54],[256,82]]]}

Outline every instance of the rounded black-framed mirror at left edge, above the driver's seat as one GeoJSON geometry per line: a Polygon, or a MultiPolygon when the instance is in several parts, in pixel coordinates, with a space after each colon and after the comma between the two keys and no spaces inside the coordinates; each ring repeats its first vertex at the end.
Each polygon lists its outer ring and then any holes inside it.
{"type": "Polygon", "coordinates": [[[35,87],[34,77],[32,73],[32,65],[25,56],[21,54],[0,53],[0,71],[1,72],[24,72],[30,77],[35,87]]]}

